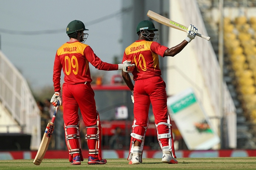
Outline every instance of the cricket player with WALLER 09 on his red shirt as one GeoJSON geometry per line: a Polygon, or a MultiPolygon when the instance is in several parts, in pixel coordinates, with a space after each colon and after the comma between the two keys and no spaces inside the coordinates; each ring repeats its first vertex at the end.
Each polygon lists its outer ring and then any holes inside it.
{"type": "Polygon", "coordinates": [[[94,91],[90,84],[92,79],[89,63],[99,70],[123,70],[126,73],[132,72],[135,66],[128,60],[123,64],[109,64],[101,61],[92,48],[83,43],[88,36],[88,33],[84,33],[85,30],[88,29],[85,29],[84,23],[78,20],[71,21],[67,25],[66,33],[69,41],[57,50],[53,66],[55,94],[51,102],[56,105],[59,101],[63,105],[66,145],[72,165],[80,165],[84,160],[80,142],[78,107],[87,128],[85,138],[89,149],[88,164],[107,163],[106,159],[101,158],[101,122],[99,113],[96,111],[94,91]],[[61,93],[62,70],[64,83],[61,93]]]}

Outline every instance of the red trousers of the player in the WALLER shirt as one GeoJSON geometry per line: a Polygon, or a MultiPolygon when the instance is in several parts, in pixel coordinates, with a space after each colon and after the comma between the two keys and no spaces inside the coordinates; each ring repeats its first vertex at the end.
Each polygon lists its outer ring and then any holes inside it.
{"type": "MultiPolygon", "coordinates": [[[[63,120],[66,126],[77,125],[79,121],[78,106],[83,117],[83,122],[86,127],[97,124],[97,111],[94,99],[94,91],[90,83],[86,84],[63,84],[62,87],[63,98],[63,120]]],[[[77,130],[68,128],[67,133],[76,134],[77,130]]],[[[97,128],[88,128],[87,135],[97,134],[97,128]]],[[[85,139],[81,139],[85,140],[85,139]]],[[[88,140],[88,148],[95,149],[96,140],[88,140]]],[[[69,140],[71,149],[79,149],[79,141],[77,139],[69,140]]],[[[89,156],[96,157],[95,154],[89,156]]]]}

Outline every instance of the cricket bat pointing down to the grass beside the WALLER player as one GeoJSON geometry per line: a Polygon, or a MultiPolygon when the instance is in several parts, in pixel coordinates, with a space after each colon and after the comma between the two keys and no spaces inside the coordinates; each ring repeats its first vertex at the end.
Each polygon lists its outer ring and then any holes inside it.
{"type": "Polygon", "coordinates": [[[43,134],[41,144],[36,153],[36,157],[33,161],[33,163],[35,165],[40,165],[40,163],[42,162],[43,157],[45,156],[45,153],[48,149],[48,146],[49,146],[49,143],[50,143],[50,140],[52,137],[52,133],[53,133],[53,129],[54,129],[54,121],[55,121],[55,117],[56,117],[56,113],[57,113],[58,109],[59,109],[59,102],[58,102],[58,105],[55,107],[55,111],[53,113],[51,122],[48,123],[46,126],[45,133],[43,134]]]}

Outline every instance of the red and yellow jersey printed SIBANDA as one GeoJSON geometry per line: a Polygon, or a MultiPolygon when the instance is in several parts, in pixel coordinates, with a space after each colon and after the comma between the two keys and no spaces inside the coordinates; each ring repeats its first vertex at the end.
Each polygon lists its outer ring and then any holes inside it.
{"type": "Polygon", "coordinates": [[[132,72],[134,81],[161,76],[158,55],[164,57],[167,48],[155,41],[137,40],[125,49],[122,62],[130,59],[136,65],[132,72]]]}

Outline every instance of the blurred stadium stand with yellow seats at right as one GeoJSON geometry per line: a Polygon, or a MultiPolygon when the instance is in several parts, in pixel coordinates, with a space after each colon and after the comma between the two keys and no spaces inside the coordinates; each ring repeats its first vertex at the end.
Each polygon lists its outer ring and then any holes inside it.
{"type": "MultiPolygon", "coordinates": [[[[218,56],[218,1],[197,2],[218,56]]],[[[223,22],[224,80],[236,106],[237,145],[256,148],[256,0],[225,0],[223,22]]]]}

